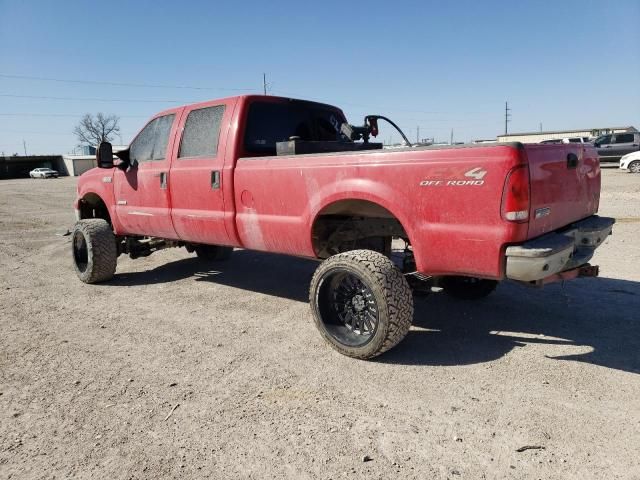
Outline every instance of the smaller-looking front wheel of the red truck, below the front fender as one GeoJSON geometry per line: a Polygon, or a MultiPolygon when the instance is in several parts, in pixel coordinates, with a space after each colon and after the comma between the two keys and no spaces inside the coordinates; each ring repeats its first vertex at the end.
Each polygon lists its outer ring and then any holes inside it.
{"type": "Polygon", "coordinates": [[[92,218],[77,222],[71,235],[71,251],[73,267],[84,283],[104,282],[113,277],[118,249],[106,220],[92,218]]]}

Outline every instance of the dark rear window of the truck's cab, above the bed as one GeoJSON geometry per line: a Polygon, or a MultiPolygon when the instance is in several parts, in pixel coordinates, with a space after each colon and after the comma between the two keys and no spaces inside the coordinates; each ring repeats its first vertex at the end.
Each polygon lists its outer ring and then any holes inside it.
{"type": "Polygon", "coordinates": [[[250,104],[244,134],[249,155],[275,155],[276,143],[299,137],[308,141],[335,141],[346,119],[335,107],[313,102],[260,102],[250,104]]]}

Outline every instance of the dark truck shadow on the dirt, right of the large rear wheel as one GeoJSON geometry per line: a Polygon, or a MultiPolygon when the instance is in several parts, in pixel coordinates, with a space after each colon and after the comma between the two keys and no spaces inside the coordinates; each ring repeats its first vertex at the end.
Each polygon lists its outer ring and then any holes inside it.
{"type": "Polygon", "coordinates": [[[412,330],[378,361],[467,365],[528,345],[544,345],[549,359],[640,373],[640,283],[601,277],[530,289],[504,282],[483,300],[417,298],[412,330]]]}

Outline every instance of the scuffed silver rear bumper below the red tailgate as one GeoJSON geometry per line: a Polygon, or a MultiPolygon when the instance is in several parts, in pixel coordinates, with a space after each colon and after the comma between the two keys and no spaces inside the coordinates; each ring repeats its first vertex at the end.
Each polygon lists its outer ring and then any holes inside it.
{"type": "Polygon", "coordinates": [[[522,245],[507,247],[507,278],[537,282],[586,264],[611,234],[614,223],[613,218],[593,215],[522,245]]]}

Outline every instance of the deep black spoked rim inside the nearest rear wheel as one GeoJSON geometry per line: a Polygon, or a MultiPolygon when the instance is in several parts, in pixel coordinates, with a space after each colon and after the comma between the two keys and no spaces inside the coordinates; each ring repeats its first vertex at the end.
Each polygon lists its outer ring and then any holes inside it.
{"type": "Polygon", "coordinates": [[[325,274],[318,307],[325,330],[342,345],[362,347],[378,329],[380,312],[373,292],[357,275],[344,269],[325,274]]]}

